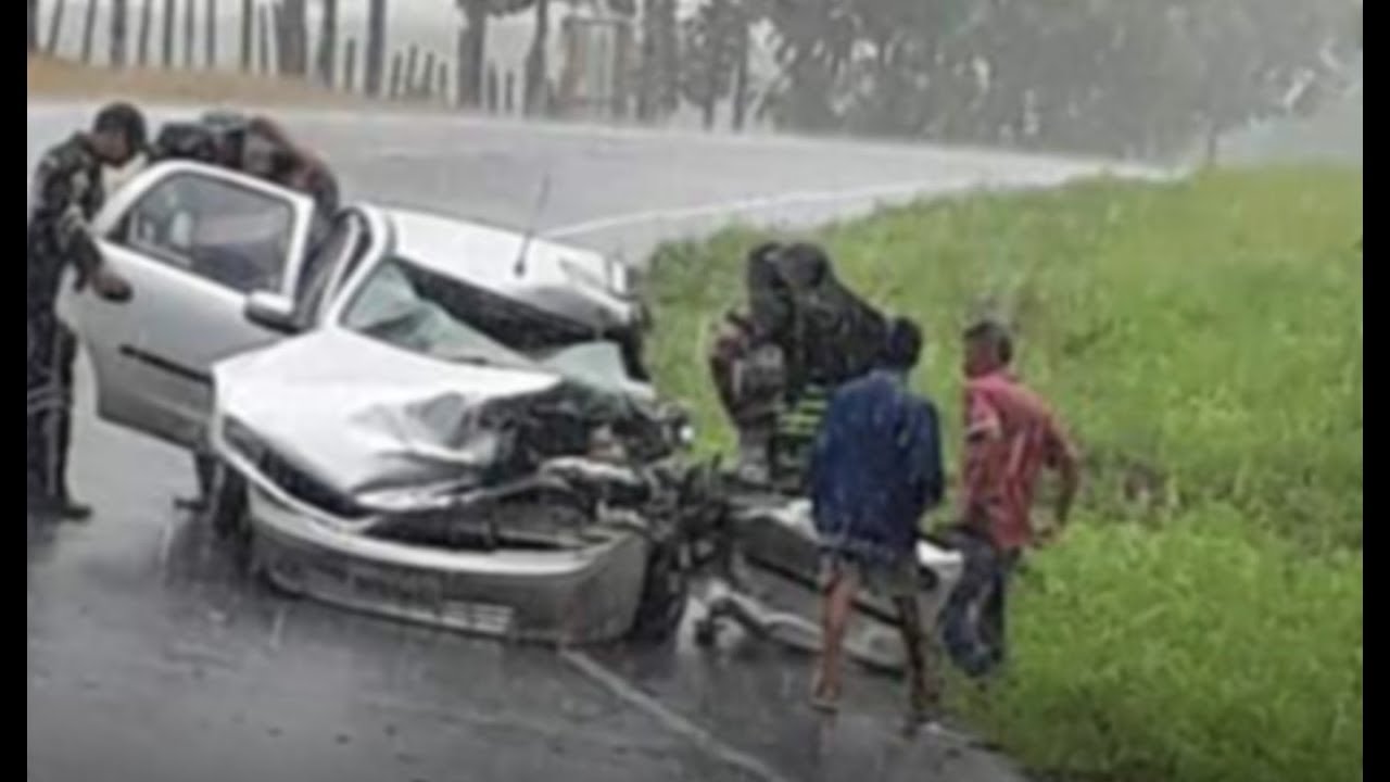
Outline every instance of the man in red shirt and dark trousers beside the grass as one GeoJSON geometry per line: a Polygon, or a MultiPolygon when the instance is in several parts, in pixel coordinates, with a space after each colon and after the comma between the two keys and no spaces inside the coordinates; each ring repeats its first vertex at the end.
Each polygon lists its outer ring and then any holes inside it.
{"type": "Polygon", "coordinates": [[[1074,448],[1047,402],[1009,372],[1012,359],[1013,341],[1001,323],[983,320],[965,331],[963,498],[949,537],[966,566],[942,609],[942,636],[972,676],[1004,661],[1009,576],[1026,547],[1047,543],[1066,525],[1079,484],[1074,448]],[[1038,534],[1030,511],[1044,468],[1062,486],[1054,526],[1038,534]]]}

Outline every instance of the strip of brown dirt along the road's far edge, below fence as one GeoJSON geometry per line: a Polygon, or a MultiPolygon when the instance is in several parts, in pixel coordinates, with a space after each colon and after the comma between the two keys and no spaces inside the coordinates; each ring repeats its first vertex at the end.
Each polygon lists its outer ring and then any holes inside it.
{"type": "MultiPolygon", "coordinates": [[[[371,106],[366,97],[322,89],[299,79],[225,71],[90,68],[65,60],[29,57],[29,97],[50,100],[128,99],[156,103],[242,103],[346,109],[371,106]]],[[[379,103],[377,103],[379,106],[379,103]]],[[[391,103],[392,110],[430,109],[427,103],[391,103]]],[[[436,107],[436,106],[435,106],[436,107]]]]}

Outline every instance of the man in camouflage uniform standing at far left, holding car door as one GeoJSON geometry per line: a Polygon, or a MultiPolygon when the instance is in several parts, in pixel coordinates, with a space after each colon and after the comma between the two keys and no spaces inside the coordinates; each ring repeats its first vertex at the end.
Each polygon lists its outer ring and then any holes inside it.
{"type": "Polygon", "coordinates": [[[145,147],[145,118],[129,104],[103,109],[90,132],[75,134],[39,160],[28,227],[28,430],[26,498],[43,518],[81,520],[90,515],[67,484],[71,438],[72,365],[76,338],[58,319],[64,273],[76,271],[75,289],[90,287],[108,301],[125,301],[129,285],[108,271],[92,235],[100,209],[104,168],[125,168],[145,147]]]}

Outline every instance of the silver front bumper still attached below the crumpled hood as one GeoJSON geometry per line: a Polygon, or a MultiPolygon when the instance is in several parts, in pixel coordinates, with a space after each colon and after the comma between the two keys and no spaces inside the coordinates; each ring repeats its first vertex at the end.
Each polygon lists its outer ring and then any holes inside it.
{"type": "Polygon", "coordinates": [[[578,550],[446,551],[357,534],[252,479],[261,572],[350,609],[523,641],[584,644],[632,625],[648,543],[630,532],[578,550]]]}

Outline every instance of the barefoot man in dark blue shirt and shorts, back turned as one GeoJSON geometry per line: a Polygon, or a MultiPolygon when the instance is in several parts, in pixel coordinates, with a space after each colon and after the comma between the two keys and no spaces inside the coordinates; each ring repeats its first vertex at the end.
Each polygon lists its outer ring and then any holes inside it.
{"type": "Polygon", "coordinates": [[[945,480],[935,406],[908,390],[920,352],[917,326],[894,320],[880,367],[834,394],[812,454],[810,500],[824,562],[824,640],[812,701],[826,711],[840,697],[844,636],[860,586],[890,597],[898,609],[913,722],[929,718],[940,697],[927,678],[916,543],[922,516],[941,502],[945,480]]]}

